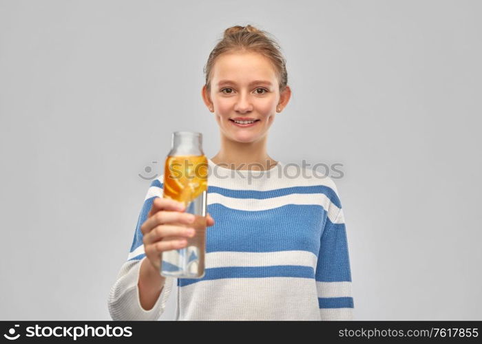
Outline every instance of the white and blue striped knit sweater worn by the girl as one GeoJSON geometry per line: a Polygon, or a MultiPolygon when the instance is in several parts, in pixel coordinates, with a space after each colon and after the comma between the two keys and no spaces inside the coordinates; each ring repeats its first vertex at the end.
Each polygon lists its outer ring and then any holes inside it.
{"type": "Polygon", "coordinates": [[[153,308],[140,305],[138,275],[152,201],[151,182],[134,240],[108,307],[114,320],[157,320],[177,288],[176,320],[351,320],[353,296],[342,205],[331,178],[278,162],[232,170],[208,159],[205,276],[166,277],[153,308]]]}

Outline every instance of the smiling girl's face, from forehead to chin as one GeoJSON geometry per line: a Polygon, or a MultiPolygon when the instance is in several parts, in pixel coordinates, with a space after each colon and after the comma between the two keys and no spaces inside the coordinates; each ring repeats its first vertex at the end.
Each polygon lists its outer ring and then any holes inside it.
{"type": "Polygon", "coordinates": [[[209,96],[222,133],[238,142],[255,142],[273,123],[280,89],[268,58],[253,52],[229,53],[213,65],[209,96]],[[243,127],[234,118],[256,122],[243,127]]]}

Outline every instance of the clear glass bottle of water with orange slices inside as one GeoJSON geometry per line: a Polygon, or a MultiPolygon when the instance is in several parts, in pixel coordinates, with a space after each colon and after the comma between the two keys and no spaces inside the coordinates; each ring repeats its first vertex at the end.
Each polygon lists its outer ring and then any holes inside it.
{"type": "MultiPolygon", "coordinates": [[[[165,277],[202,278],[205,276],[207,158],[202,152],[202,134],[190,131],[173,133],[172,148],[165,160],[163,197],[185,204],[185,213],[196,216],[190,224],[176,224],[196,230],[187,246],[161,253],[160,274],[165,277]]],[[[180,239],[180,238],[179,238],[180,239]]]]}

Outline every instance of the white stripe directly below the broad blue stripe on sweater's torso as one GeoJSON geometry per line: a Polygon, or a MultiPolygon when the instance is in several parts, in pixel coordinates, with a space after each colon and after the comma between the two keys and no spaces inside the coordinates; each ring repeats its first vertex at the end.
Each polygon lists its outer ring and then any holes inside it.
{"type": "Polygon", "coordinates": [[[277,252],[209,252],[206,254],[205,268],[228,266],[310,266],[315,270],[317,257],[304,250],[277,252]]]}

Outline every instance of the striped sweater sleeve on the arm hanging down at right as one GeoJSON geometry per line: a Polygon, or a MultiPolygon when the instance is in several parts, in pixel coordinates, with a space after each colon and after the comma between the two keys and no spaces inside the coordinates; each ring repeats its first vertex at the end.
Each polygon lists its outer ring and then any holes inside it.
{"type": "Polygon", "coordinates": [[[321,320],[353,320],[353,295],[345,220],[336,186],[320,239],[315,280],[321,320]]]}

